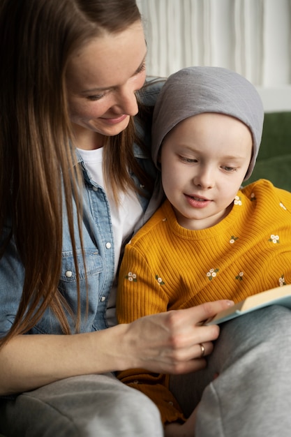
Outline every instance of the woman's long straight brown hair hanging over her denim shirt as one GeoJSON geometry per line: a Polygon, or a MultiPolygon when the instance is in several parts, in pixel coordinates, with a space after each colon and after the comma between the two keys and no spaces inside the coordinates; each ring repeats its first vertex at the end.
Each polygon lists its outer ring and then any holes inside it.
{"type": "MultiPolygon", "coordinates": [[[[78,272],[73,201],[82,241],[82,202],[78,195],[82,177],[70,142],[73,135],[67,108],[66,65],[77,48],[98,38],[104,29],[116,33],[137,20],[140,12],[135,0],[1,0],[0,235],[6,235],[7,222],[11,232],[1,242],[0,257],[13,237],[25,269],[15,323],[2,342],[28,332],[48,306],[63,332],[70,333],[66,317],[70,309],[57,288],[62,217],[68,215],[78,272]]],[[[133,157],[133,140],[132,120],[124,133],[108,139],[105,175],[113,193],[132,184],[128,168],[144,177],[133,157]]],[[[76,299],[77,330],[78,283],[76,299]]]]}

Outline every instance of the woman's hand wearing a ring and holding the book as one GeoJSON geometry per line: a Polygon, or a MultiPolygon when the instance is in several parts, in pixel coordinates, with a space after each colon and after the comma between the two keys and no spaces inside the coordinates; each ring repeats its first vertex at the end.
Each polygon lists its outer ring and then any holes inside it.
{"type": "MultiPolygon", "coordinates": [[[[219,334],[217,325],[203,326],[204,320],[231,306],[223,300],[189,309],[168,311],[135,320],[126,327],[122,369],[142,368],[156,373],[188,373],[203,369],[202,357],[213,350],[219,334]]],[[[120,326],[120,325],[119,325],[120,326]]]]}

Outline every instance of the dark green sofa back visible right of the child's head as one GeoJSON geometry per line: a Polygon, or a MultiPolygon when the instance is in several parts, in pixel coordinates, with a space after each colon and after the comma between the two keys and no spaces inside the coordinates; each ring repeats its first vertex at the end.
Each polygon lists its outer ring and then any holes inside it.
{"type": "Polygon", "coordinates": [[[266,112],[262,143],[251,178],[269,179],[275,186],[291,191],[291,112],[266,112]]]}

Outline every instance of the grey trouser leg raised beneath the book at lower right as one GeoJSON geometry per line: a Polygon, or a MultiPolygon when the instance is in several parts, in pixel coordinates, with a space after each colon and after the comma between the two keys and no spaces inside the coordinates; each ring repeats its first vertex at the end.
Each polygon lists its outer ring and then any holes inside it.
{"type": "Polygon", "coordinates": [[[291,436],[291,311],[270,306],[221,325],[207,369],[171,377],[195,437],[291,436]],[[205,388],[206,387],[206,388],[205,388]]]}

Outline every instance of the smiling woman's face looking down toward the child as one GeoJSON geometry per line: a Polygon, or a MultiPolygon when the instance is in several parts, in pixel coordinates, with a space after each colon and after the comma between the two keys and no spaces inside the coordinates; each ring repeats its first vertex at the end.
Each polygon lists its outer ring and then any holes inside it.
{"type": "Polygon", "coordinates": [[[135,91],[144,84],[146,54],[141,22],[104,33],[75,52],[66,83],[77,147],[102,147],[104,135],[117,135],[137,114],[135,91]]]}

